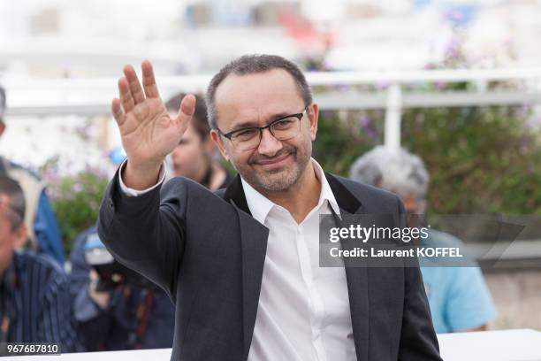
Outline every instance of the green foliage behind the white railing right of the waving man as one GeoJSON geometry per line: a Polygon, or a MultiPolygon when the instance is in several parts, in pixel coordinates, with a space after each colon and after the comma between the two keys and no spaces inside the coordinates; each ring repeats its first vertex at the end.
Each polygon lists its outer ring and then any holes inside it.
{"type": "MultiPolygon", "coordinates": [[[[460,42],[427,68],[468,67],[460,42]]],[[[490,89],[519,88],[492,82],[490,89]]],[[[467,82],[424,84],[405,91],[465,91],[467,82]]],[[[354,91],[351,88],[350,91],[354,91]]],[[[431,174],[428,209],[435,213],[541,213],[541,128],[530,106],[408,109],[402,146],[422,157],[431,174]]],[[[315,157],[324,169],[346,175],[354,159],[383,142],[383,112],[323,112],[315,157]]]]}

